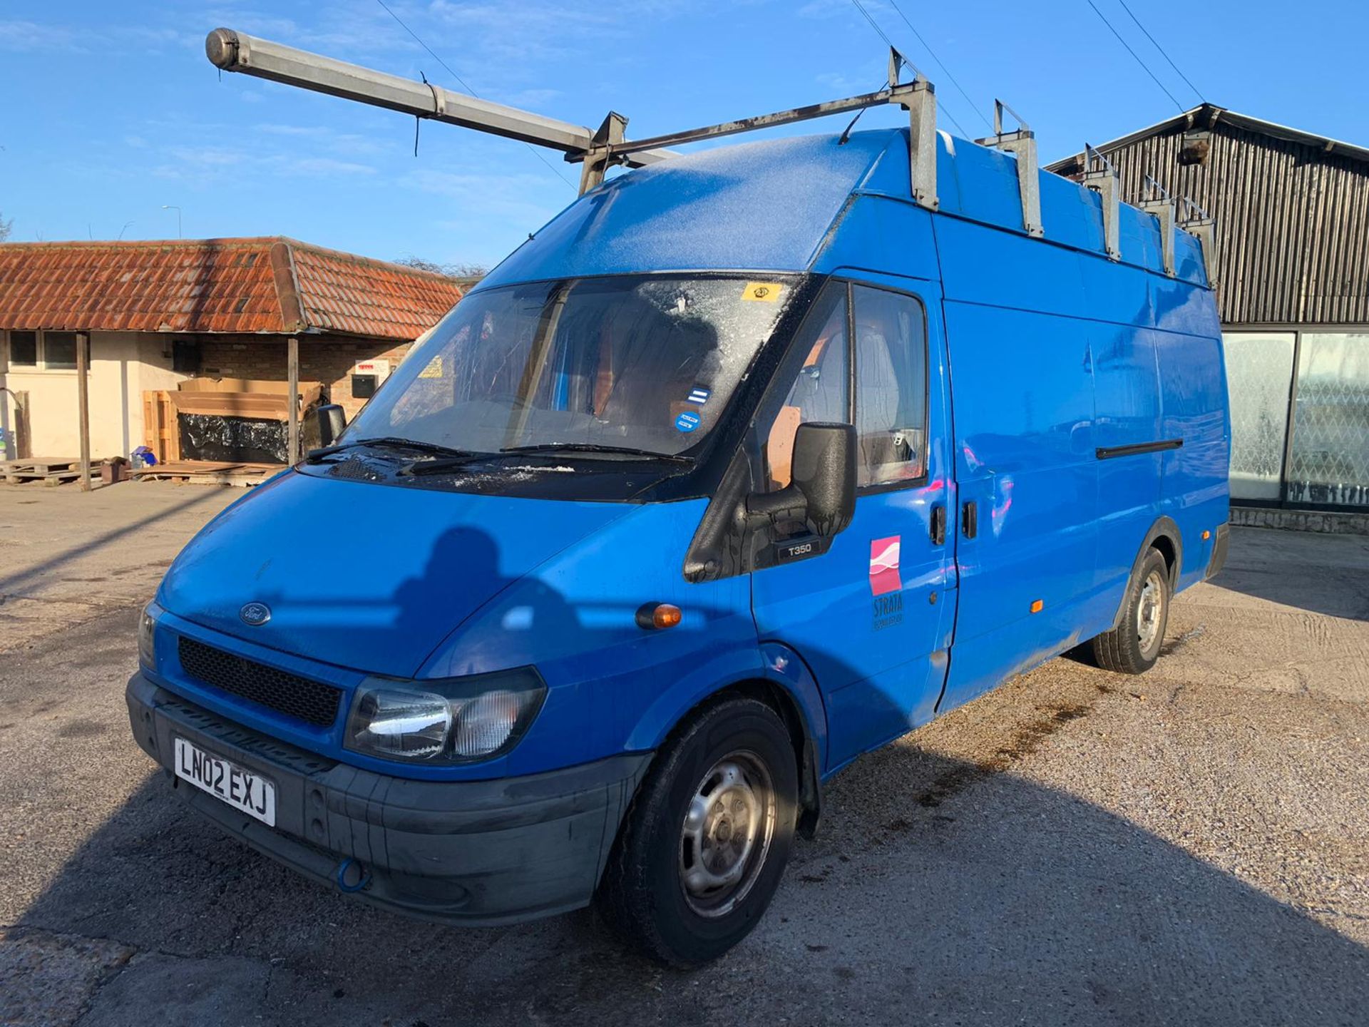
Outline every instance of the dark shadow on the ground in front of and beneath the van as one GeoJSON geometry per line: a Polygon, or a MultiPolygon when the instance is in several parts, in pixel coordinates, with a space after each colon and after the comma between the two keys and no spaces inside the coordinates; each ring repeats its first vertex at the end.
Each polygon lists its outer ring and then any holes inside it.
{"type": "MultiPolygon", "coordinates": [[[[906,742],[838,778],[752,938],[663,971],[587,913],[416,924],[223,838],[149,778],[22,924],[137,950],[104,1023],[1364,1023],[1366,950],[1068,794],[906,742]]],[[[916,735],[913,735],[916,738],[916,735]]]]}

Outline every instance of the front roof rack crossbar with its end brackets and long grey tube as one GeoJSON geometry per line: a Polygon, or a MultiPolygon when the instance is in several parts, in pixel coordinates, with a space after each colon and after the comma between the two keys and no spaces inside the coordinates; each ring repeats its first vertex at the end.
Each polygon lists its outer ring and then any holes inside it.
{"type": "MultiPolygon", "coordinates": [[[[608,114],[598,130],[590,131],[582,125],[455,93],[427,81],[415,82],[359,64],[348,64],[233,29],[211,31],[204,41],[204,49],[209,62],[222,71],[237,71],[311,89],[316,93],[385,107],[411,114],[415,118],[430,118],[448,125],[460,125],[557,149],[565,155],[565,160],[582,164],[579,186],[582,194],[600,185],[605,171],[615,164],[645,167],[676,156],[672,151],[665,149],[667,147],[734,136],[776,125],[793,125],[794,122],[824,118],[830,114],[862,111],[867,107],[898,104],[909,112],[909,163],[912,166],[913,199],[923,207],[936,210],[936,90],[894,48],[890,48],[888,52],[888,84],[873,93],[686,129],[645,140],[626,138],[627,118],[616,111],[608,114]],[[909,82],[898,81],[904,67],[913,71],[913,79],[909,82]]],[[[1032,144],[1031,152],[1035,160],[1035,144],[1032,144]]]]}

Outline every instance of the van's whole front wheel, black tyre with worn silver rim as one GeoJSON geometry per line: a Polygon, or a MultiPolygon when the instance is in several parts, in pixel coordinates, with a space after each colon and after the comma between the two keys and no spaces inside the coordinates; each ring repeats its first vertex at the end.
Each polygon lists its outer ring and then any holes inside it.
{"type": "Polygon", "coordinates": [[[731,697],[663,746],[627,812],[596,905],[628,943],[697,967],[760,920],[789,861],[798,770],[776,712],[731,697]]]}

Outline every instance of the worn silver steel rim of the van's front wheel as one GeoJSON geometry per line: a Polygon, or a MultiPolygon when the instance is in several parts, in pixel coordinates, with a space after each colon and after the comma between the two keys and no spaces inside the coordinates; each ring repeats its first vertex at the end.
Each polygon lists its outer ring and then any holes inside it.
{"type": "Polygon", "coordinates": [[[726,916],[760,878],[775,838],[775,787],[753,752],[728,753],[694,787],[679,842],[679,882],[700,916],[726,916]]]}

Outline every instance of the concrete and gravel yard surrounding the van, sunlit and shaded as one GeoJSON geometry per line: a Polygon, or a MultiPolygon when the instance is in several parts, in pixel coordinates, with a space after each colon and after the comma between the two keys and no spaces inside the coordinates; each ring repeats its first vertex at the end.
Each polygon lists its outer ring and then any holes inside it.
{"type": "Polygon", "coordinates": [[[0,486],[0,1024],[1369,1023],[1369,538],[1236,529],[1150,674],[1053,660],[857,761],[679,974],[589,912],[401,920],[190,819],[123,686],[241,496],[0,486]]]}

